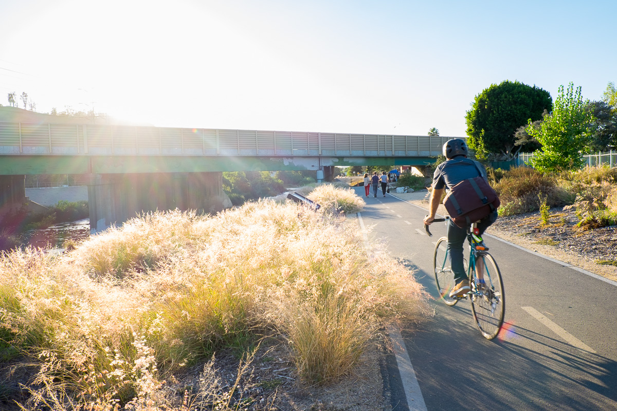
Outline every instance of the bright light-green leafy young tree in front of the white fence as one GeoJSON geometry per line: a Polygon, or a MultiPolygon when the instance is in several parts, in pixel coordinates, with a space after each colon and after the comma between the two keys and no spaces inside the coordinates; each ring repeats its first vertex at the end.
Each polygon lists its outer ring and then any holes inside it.
{"type": "Polygon", "coordinates": [[[534,137],[542,149],[534,152],[531,164],[542,173],[560,169],[581,168],[582,155],[589,145],[589,126],[594,120],[586,110],[589,101],[583,101],[581,87],[569,83],[564,91],[559,86],[553,112],[544,116],[539,127],[529,120],[527,132],[534,137]]]}

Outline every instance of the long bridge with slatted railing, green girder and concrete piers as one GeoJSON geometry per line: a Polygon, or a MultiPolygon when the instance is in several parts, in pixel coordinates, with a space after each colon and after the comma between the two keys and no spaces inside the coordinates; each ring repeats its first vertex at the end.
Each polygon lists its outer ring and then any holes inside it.
{"type": "Polygon", "coordinates": [[[1,107],[0,207],[23,203],[25,174],[85,174],[94,232],[141,210],[220,211],[223,171],[327,180],[334,166],[426,166],[450,138],[88,124],[1,107]]]}

